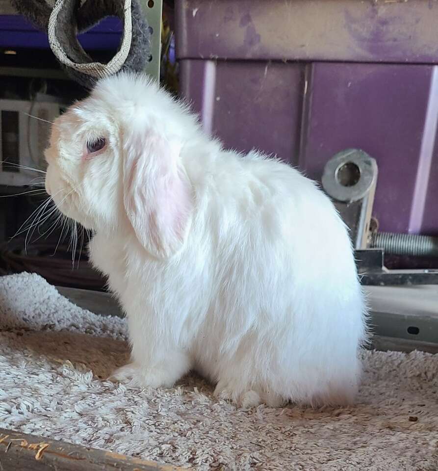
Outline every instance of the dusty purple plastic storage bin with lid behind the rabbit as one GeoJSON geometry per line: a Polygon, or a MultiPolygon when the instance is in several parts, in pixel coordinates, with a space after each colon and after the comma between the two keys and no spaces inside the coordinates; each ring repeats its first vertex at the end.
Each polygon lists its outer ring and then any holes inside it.
{"type": "Polygon", "coordinates": [[[176,0],[181,93],[207,131],[320,180],[361,148],[379,230],[438,234],[438,3],[176,0]]]}

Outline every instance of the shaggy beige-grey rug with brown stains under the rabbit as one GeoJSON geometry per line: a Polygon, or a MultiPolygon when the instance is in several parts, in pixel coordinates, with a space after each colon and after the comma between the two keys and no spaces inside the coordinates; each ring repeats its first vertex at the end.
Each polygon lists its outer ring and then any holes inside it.
{"type": "Polygon", "coordinates": [[[196,470],[438,469],[438,356],[364,352],[355,407],[243,410],[196,376],[107,382],[126,335],[37,275],[0,278],[0,427],[196,470]]]}

